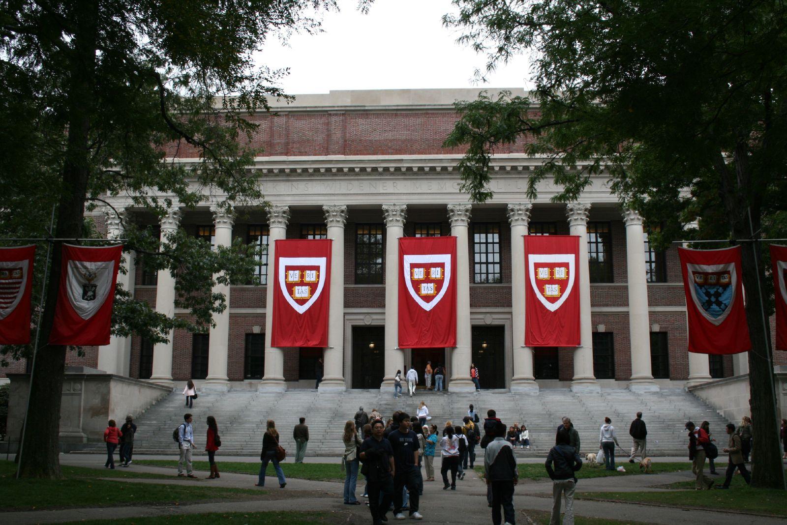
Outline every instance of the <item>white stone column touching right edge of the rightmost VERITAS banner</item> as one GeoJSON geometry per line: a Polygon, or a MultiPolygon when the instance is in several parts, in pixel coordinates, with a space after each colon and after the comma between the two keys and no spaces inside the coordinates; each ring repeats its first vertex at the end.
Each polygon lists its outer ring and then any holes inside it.
{"type": "Polygon", "coordinates": [[[590,314],[590,266],[588,260],[588,218],[590,204],[566,206],[571,235],[579,236],[579,346],[574,351],[572,391],[600,391],[593,374],[593,318],[590,314]]]}

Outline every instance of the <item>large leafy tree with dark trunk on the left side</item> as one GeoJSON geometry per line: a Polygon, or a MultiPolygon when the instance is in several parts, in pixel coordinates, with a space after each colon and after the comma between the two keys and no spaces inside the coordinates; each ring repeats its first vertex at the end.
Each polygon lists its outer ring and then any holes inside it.
{"type": "MultiPolygon", "coordinates": [[[[333,0],[13,0],[0,2],[0,233],[46,236],[54,206],[54,237],[95,233],[86,205],[124,193],[135,205],[163,215],[176,196],[194,206],[206,193],[224,205],[260,203],[247,167],[257,151],[246,116],[285,97],[275,81],[285,72],[257,68],[253,53],[272,35],[315,31],[312,18],[333,0]],[[311,13],[311,14],[310,14],[311,13]],[[167,163],[179,148],[199,162],[167,163]],[[33,198],[31,198],[31,196],[33,198]]],[[[200,329],[224,296],[206,293],[216,282],[249,274],[251,252],[235,245],[211,251],[183,233],[159,249],[149,231],[129,227],[127,250],[149,253],[150,270],[181,272],[179,306],[193,323],[156,314],[119,290],[113,332],[166,340],[176,326],[200,329]]],[[[54,246],[31,385],[31,411],[20,472],[61,477],[58,463],[63,346],[46,344],[61,274],[54,246]]],[[[39,254],[39,268],[42,268],[39,254]]],[[[40,279],[40,272],[36,275],[40,279]]],[[[3,347],[11,357],[30,347],[3,347]]],[[[72,349],[73,350],[73,349],[72,349]]],[[[78,351],[78,349],[76,349],[78,351]]]]}

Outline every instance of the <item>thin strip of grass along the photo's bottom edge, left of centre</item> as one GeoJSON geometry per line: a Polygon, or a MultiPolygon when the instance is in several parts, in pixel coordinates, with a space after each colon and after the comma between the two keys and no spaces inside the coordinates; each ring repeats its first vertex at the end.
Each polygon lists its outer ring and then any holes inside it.
{"type": "MultiPolygon", "coordinates": [[[[345,517],[345,516],[342,516],[345,517]]],[[[185,525],[216,525],[226,520],[236,523],[255,523],[256,525],[309,525],[310,523],[337,523],[334,512],[212,512],[210,514],[179,514],[178,516],[156,516],[153,518],[124,519],[128,523],[144,523],[145,525],[171,525],[184,523],[185,525]]],[[[346,522],[346,519],[342,519],[346,522]]],[[[117,519],[94,519],[91,521],[72,521],[65,525],[102,525],[104,523],[117,523],[117,519]]],[[[582,522],[577,522],[582,523],[582,522]]]]}

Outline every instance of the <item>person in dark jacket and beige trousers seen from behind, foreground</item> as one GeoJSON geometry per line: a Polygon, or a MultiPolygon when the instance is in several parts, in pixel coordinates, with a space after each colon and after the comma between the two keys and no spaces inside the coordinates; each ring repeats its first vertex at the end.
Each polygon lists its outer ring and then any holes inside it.
{"type": "Polygon", "coordinates": [[[555,446],[549,450],[544,464],[549,479],[552,479],[552,516],[549,517],[549,525],[560,523],[561,494],[566,501],[563,525],[574,525],[574,490],[577,486],[575,472],[582,468],[582,459],[579,451],[575,450],[569,441],[570,437],[565,428],[557,431],[555,446]]]}

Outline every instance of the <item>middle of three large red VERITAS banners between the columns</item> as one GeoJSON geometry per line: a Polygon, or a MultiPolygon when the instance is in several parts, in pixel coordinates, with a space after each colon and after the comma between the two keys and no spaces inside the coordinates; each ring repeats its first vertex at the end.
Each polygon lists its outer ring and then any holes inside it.
{"type": "Polygon", "coordinates": [[[456,237],[401,237],[399,268],[399,347],[455,347],[456,237]]]}

